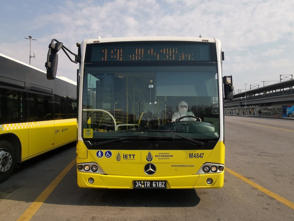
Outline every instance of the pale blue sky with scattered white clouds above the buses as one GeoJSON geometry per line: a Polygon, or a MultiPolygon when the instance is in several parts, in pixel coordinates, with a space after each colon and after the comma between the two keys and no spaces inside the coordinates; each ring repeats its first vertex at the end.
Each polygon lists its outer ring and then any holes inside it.
{"type": "MultiPolygon", "coordinates": [[[[0,11],[0,53],[29,64],[32,36],[31,65],[43,71],[53,38],[77,53],[77,42],[98,36],[201,35],[221,41],[235,93],[293,75],[293,0],[12,0],[0,11]]],[[[58,54],[57,75],[76,80],[78,64],[58,54]]]]}

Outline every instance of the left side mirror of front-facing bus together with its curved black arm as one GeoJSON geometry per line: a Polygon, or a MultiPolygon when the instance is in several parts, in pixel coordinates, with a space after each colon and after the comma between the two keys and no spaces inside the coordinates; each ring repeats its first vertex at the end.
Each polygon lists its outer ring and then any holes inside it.
{"type": "Polygon", "coordinates": [[[46,67],[46,70],[47,70],[47,79],[48,80],[55,79],[55,77],[56,77],[57,64],[58,64],[58,54],[57,54],[57,52],[60,49],[63,50],[63,52],[70,59],[71,62],[74,62],[76,64],[81,62],[81,58],[77,54],[71,52],[68,48],[66,48],[63,45],[62,42],[57,41],[56,39],[52,39],[51,43],[49,44],[49,50],[48,50],[48,54],[47,54],[47,62],[45,63],[45,67],[46,67]],[[54,43],[54,42],[56,42],[56,43],[54,43]],[[71,57],[69,56],[69,54],[67,52],[74,55],[74,60],[71,59],[71,57]]]}

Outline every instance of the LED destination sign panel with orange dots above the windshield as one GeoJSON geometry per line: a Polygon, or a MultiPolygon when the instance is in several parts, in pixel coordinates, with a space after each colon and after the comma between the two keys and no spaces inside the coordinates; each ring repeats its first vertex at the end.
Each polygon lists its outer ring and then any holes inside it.
{"type": "Polygon", "coordinates": [[[85,62],[134,61],[212,61],[216,60],[213,43],[142,42],[89,44],[85,62]],[[213,52],[213,53],[211,53],[213,52]]]}

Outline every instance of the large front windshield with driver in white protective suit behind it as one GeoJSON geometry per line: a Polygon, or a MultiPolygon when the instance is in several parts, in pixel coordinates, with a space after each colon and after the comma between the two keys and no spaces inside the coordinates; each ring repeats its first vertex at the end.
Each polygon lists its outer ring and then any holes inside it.
{"type": "Polygon", "coordinates": [[[83,138],[219,138],[218,99],[216,62],[85,64],[83,138]]]}

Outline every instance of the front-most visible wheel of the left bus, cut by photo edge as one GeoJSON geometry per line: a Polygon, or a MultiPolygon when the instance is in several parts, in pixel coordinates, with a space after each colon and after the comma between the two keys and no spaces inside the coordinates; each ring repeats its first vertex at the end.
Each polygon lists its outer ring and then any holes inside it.
{"type": "Polygon", "coordinates": [[[7,180],[15,165],[15,151],[8,141],[0,141],[0,183],[7,180]]]}

